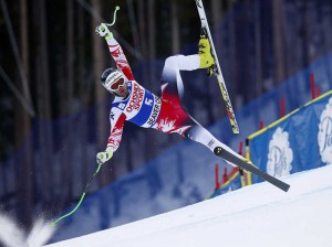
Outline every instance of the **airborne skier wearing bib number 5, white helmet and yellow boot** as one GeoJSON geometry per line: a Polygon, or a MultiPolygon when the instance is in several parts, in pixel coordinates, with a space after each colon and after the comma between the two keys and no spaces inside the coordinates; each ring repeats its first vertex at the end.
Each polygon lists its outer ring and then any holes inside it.
{"type": "Polygon", "coordinates": [[[250,162],[217,140],[181,107],[184,86],[180,71],[207,68],[209,72],[215,64],[206,35],[200,35],[198,54],[174,55],[166,58],[162,74],[162,96],[158,97],[135,80],[122,47],[106,24],[100,24],[96,33],[105,37],[117,66],[117,68],[107,68],[101,76],[103,86],[115,98],[110,114],[111,135],[106,150],[96,154],[97,163],[104,163],[113,157],[120,146],[126,120],[143,128],[154,128],[166,133],[177,132],[204,144],[216,154],[226,152],[228,155],[250,162]]]}

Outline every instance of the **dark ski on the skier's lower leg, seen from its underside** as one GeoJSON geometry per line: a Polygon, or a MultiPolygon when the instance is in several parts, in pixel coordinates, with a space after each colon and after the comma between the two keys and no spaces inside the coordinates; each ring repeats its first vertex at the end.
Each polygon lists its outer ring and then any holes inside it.
{"type": "Polygon", "coordinates": [[[290,185],[282,182],[281,180],[276,179],[274,176],[271,176],[270,174],[263,172],[262,170],[258,169],[253,164],[250,164],[236,155],[231,154],[230,152],[226,151],[225,149],[217,147],[214,150],[215,154],[229,161],[230,163],[238,165],[241,169],[245,169],[248,172],[252,172],[256,175],[260,176],[261,179],[266,180],[267,182],[273,184],[274,186],[279,187],[280,190],[288,192],[290,185]]]}

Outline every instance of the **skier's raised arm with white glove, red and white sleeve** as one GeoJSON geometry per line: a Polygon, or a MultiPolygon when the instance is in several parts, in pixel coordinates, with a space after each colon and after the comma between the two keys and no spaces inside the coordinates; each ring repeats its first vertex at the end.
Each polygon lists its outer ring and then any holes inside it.
{"type": "Polygon", "coordinates": [[[113,33],[110,32],[106,24],[102,23],[96,28],[96,32],[101,35],[104,36],[107,45],[110,53],[113,57],[113,60],[116,63],[116,66],[122,71],[122,73],[126,76],[128,80],[134,80],[134,75],[132,73],[131,66],[128,64],[128,61],[121,47],[121,45],[117,43],[117,41],[114,39],[113,33]]]}

